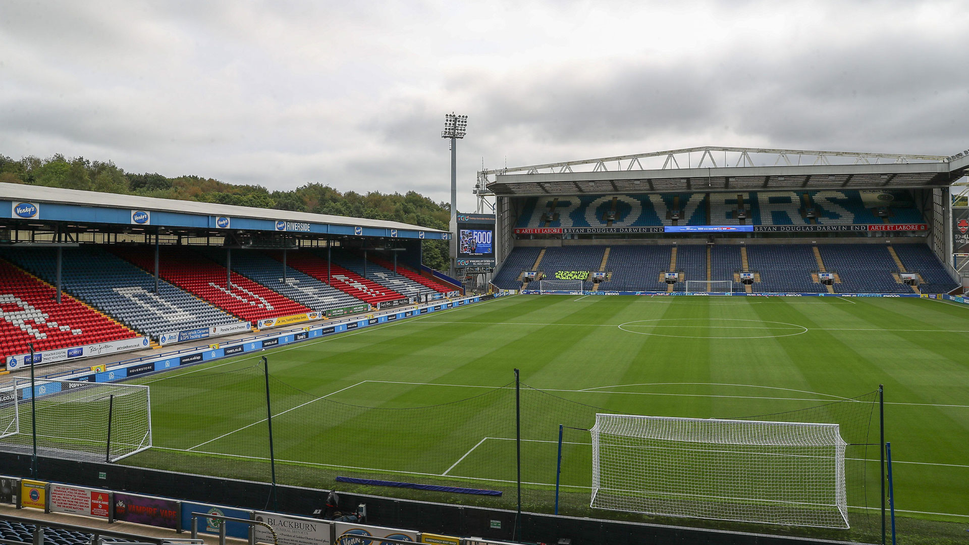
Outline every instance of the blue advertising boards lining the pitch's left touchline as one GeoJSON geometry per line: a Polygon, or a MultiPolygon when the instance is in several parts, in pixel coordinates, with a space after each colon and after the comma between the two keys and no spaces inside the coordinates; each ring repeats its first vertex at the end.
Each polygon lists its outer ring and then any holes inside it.
{"type": "MultiPolygon", "coordinates": [[[[194,346],[172,350],[161,354],[152,354],[132,358],[109,364],[104,371],[92,371],[91,368],[78,368],[49,373],[40,378],[58,380],[87,380],[91,382],[110,382],[120,380],[129,376],[157,372],[166,369],[199,364],[212,360],[233,357],[235,355],[261,350],[263,348],[275,347],[277,345],[290,344],[302,340],[309,340],[316,337],[324,337],[344,333],[349,330],[361,329],[373,325],[384,324],[396,320],[404,320],[427,314],[430,312],[445,310],[463,305],[472,305],[484,300],[495,297],[502,297],[509,292],[501,291],[482,296],[468,296],[456,298],[448,301],[435,300],[430,304],[401,306],[389,310],[378,310],[366,314],[363,317],[351,317],[328,321],[324,324],[314,326],[304,326],[289,330],[273,331],[252,337],[236,338],[220,343],[213,343],[207,346],[194,346]],[[129,372],[128,369],[133,369],[129,372]]],[[[214,339],[217,340],[217,339],[214,339]]]]}

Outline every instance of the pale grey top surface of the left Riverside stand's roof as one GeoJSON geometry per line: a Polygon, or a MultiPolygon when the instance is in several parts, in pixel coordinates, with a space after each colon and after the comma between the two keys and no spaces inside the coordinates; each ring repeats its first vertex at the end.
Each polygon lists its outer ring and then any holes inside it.
{"type": "Polygon", "coordinates": [[[388,221],[383,219],[366,219],[342,215],[318,214],[279,210],[275,208],[236,207],[218,203],[200,203],[197,201],[179,201],[176,199],[158,199],[155,197],[141,197],[137,195],[120,195],[116,193],[99,193],[96,191],[80,191],[78,189],[63,189],[60,187],[45,187],[38,185],[21,185],[17,183],[0,183],[0,200],[33,201],[62,205],[80,205],[89,207],[144,209],[149,211],[169,211],[213,216],[232,216],[266,220],[285,220],[308,223],[323,223],[330,225],[346,225],[359,227],[375,227],[381,229],[405,229],[425,231],[428,233],[447,233],[439,229],[388,221]]]}

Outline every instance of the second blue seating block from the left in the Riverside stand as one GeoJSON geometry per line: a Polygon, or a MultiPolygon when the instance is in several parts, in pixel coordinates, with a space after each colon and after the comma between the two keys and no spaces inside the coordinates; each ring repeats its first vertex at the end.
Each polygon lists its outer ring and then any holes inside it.
{"type": "MultiPolygon", "coordinates": [[[[207,252],[206,255],[212,261],[225,266],[225,252],[207,252]]],[[[233,271],[248,277],[250,280],[259,282],[300,305],[321,312],[362,303],[350,294],[328,286],[308,274],[298,272],[289,267],[289,263],[287,263],[286,279],[284,280],[282,252],[273,252],[270,255],[273,257],[259,251],[234,252],[233,271]]],[[[287,258],[290,255],[287,255],[287,258]]]]}

